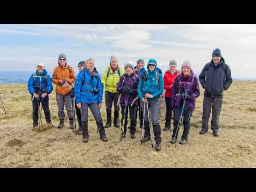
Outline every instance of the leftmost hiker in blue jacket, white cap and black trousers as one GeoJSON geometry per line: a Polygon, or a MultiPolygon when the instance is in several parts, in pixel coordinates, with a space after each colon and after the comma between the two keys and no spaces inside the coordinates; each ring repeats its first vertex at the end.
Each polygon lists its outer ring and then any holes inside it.
{"type": "Polygon", "coordinates": [[[32,95],[33,106],[33,131],[38,127],[38,109],[42,104],[47,124],[52,124],[49,109],[49,94],[52,92],[52,79],[44,69],[42,62],[39,62],[36,71],[28,79],[28,91],[32,95]]]}

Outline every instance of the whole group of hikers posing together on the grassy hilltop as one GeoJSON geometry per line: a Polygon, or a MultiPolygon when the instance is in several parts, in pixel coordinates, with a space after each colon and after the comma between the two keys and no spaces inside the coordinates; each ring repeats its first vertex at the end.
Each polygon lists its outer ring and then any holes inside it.
{"type": "MultiPolygon", "coordinates": [[[[132,61],[124,63],[124,69],[118,63],[115,55],[111,55],[107,68],[100,77],[94,66],[93,59],[87,59],[78,63],[79,73],[75,76],[74,68],[67,64],[65,54],[60,54],[58,67],[54,68],[50,77],[43,63],[37,63],[36,71],[30,76],[28,90],[33,103],[33,130],[38,127],[38,111],[42,105],[46,123],[52,124],[49,109],[49,94],[56,86],[56,100],[58,105],[58,128],[64,127],[64,106],[66,106],[69,127],[74,130],[74,111],[79,124],[77,134],[83,135],[83,142],[89,140],[88,132],[88,108],[90,108],[96,121],[100,139],[108,141],[105,129],[112,124],[112,106],[114,103],[115,127],[121,127],[120,139],[125,138],[127,128],[130,129],[130,137],[135,138],[137,116],[139,114],[139,126],[141,129],[141,144],[151,140],[153,129],[155,136],[155,149],[161,150],[161,126],[159,124],[159,97],[165,90],[165,127],[170,130],[173,116],[173,134],[171,143],[176,143],[178,131],[183,123],[183,133],[180,144],[188,142],[190,129],[190,117],[195,110],[196,99],[200,95],[198,78],[189,61],[181,65],[177,70],[177,61],[170,60],[169,69],[163,75],[157,67],[155,59],[149,59],[147,66],[145,61],[139,59],[137,66],[132,61]],[[74,85],[74,87],[73,87],[74,85]],[[107,122],[103,125],[100,108],[102,107],[103,90],[105,90],[105,104],[107,122]],[[74,107],[75,106],[75,107],[74,107]],[[121,106],[121,122],[119,122],[119,106],[121,106]],[[75,108],[75,109],[74,109],[75,108]],[[130,126],[128,127],[128,114],[130,126]],[[182,121],[183,120],[183,121],[182,121]]],[[[217,48],[212,52],[212,59],[203,67],[199,75],[199,82],[204,89],[202,129],[200,134],[208,131],[208,122],[212,111],[211,129],[215,137],[219,136],[219,116],[222,105],[223,90],[227,90],[232,83],[231,71],[217,48]]]]}

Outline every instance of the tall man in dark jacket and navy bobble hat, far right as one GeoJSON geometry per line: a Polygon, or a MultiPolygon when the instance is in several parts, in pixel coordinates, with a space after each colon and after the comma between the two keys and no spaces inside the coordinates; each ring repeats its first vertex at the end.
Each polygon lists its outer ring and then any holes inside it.
{"type": "Polygon", "coordinates": [[[204,88],[202,130],[208,132],[208,121],[212,110],[211,129],[215,137],[219,136],[219,116],[222,105],[223,90],[228,90],[232,84],[231,71],[217,48],[212,52],[212,61],[206,63],[199,81],[204,88]]]}

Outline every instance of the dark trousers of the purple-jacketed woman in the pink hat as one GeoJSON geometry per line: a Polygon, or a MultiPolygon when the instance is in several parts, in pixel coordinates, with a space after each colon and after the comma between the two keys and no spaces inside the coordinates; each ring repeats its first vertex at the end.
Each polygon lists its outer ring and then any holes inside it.
{"type": "MultiPolygon", "coordinates": [[[[180,115],[181,115],[181,110],[182,110],[182,106],[180,106],[179,108],[174,109],[174,129],[173,129],[173,135],[172,137],[175,136],[175,133],[178,129],[178,123],[179,123],[179,119],[180,119],[180,115]]],[[[184,110],[184,116],[183,116],[183,133],[181,138],[188,140],[188,134],[189,134],[189,129],[190,129],[190,117],[193,113],[193,110],[191,109],[187,109],[184,110]]],[[[179,130],[178,130],[179,131],[179,130]]],[[[177,137],[177,135],[176,135],[177,137]]]]}

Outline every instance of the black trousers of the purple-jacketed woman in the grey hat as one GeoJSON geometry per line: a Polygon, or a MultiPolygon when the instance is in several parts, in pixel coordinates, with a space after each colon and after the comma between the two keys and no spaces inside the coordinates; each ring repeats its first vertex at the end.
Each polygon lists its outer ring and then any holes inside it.
{"type": "Polygon", "coordinates": [[[122,121],[121,121],[121,126],[123,125],[124,121],[124,132],[126,133],[126,126],[127,126],[127,118],[128,118],[128,110],[129,110],[129,115],[130,115],[130,120],[131,120],[131,125],[130,125],[130,132],[135,133],[136,131],[136,112],[138,109],[138,106],[127,106],[126,111],[124,110],[124,106],[121,106],[121,113],[122,113],[122,121]]]}

